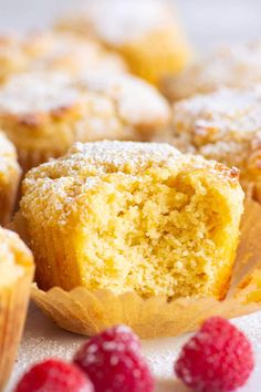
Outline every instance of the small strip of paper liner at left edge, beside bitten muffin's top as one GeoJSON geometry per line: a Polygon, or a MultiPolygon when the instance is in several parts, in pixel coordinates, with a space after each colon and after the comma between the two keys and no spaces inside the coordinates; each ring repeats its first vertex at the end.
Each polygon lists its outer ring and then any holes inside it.
{"type": "Polygon", "coordinates": [[[0,225],[6,226],[12,216],[18,189],[20,184],[21,173],[18,169],[15,173],[11,174],[10,182],[0,186],[0,225]]]}

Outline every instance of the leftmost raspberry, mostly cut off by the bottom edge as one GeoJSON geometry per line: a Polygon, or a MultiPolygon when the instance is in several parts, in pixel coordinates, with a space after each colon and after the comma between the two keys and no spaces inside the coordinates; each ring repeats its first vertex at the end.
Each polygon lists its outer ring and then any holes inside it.
{"type": "Polygon", "coordinates": [[[86,375],[75,365],[50,359],[32,367],[15,392],[93,392],[86,375]]]}

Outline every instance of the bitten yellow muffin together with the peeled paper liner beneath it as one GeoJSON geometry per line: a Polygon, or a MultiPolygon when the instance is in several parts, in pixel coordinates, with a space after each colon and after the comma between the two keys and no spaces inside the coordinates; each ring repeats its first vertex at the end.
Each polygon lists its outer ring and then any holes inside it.
{"type": "Polygon", "coordinates": [[[96,142],[30,171],[13,225],[34,252],[32,297],[60,326],[152,337],[248,311],[229,291],[242,213],[236,169],[164,144],[96,142]]]}

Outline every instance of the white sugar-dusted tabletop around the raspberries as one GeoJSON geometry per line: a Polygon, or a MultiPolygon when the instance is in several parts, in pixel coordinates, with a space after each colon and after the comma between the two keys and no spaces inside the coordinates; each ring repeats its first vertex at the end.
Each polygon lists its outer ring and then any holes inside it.
{"type": "MultiPolygon", "coordinates": [[[[255,369],[248,384],[240,392],[260,391],[261,379],[261,312],[239,318],[234,323],[243,330],[251,340],[255,352],[255,369]]],[[[156,392],[188,391],[173,376],[173,363],[180,347],[188,336],[146,340],[143,351],[157,379],[156,392]]],[[[75,350],[86,340],[84,337],[69,333],[54,326],[34,306],[31,306],[23,341],[20,348],[18,362],[9,388],[11,392],[21,373],[29,364],[44,358],[55,357],[64,360],[72,359],[75,350]]]]}

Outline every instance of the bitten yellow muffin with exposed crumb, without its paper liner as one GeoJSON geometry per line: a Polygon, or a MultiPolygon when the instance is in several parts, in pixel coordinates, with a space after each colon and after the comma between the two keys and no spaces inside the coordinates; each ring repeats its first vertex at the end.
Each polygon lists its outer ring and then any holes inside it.
{"type": "Polygon", "coordinates": [[[43,289],[222,298],[243,193],[237,169],[167,144],[76,143],[27,174],[20,207],[43,289]]]}

